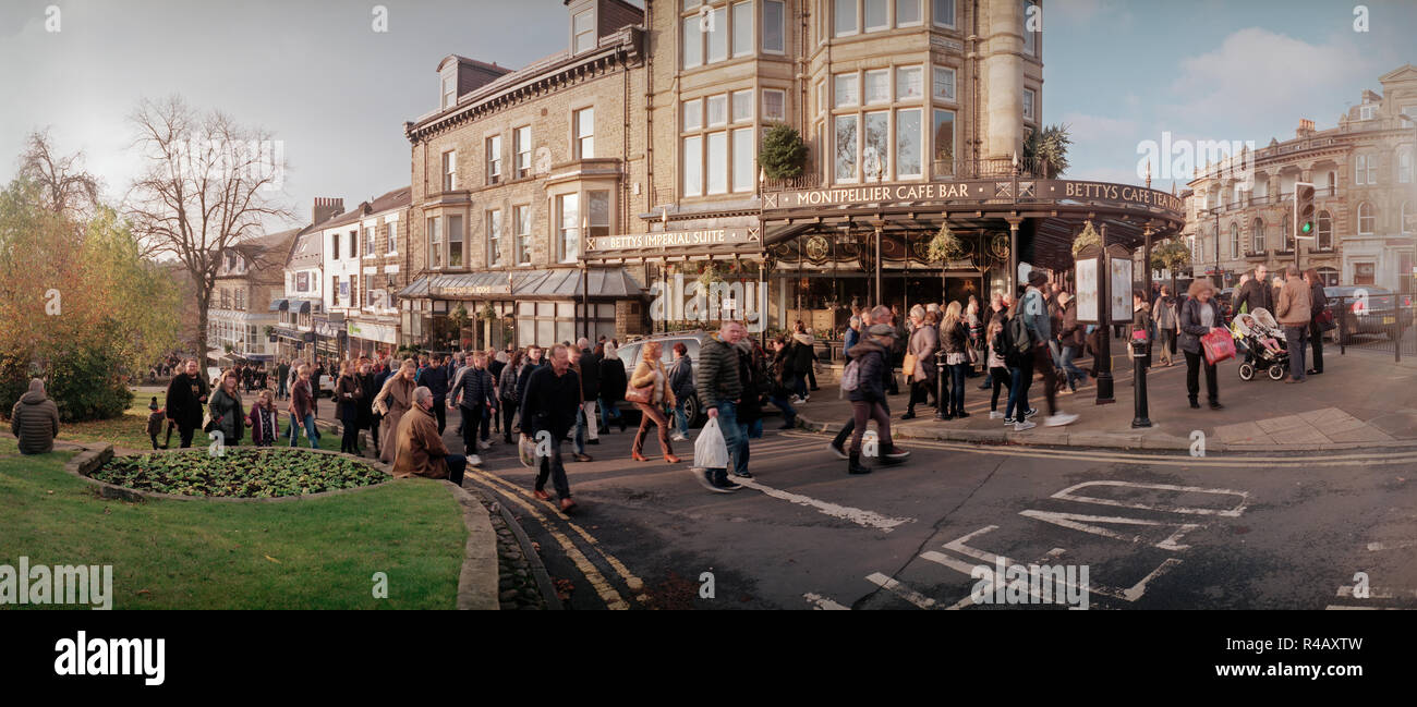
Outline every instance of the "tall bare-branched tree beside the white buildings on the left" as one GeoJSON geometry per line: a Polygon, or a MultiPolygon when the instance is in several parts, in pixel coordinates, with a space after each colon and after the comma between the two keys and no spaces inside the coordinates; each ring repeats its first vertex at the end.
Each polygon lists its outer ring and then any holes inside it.
{"type": "Polygon", "coordinates": [[[211,296],[227,251],[262,234],[264,222],[293,218],[281,203],[286,166],[271,133],[217,111],[200,113],[180,96],[143,99],[130,120],[147,164],[128,217],[150,254],[176,258],[196,283],[194,347],[205,368],[211,296]]]}

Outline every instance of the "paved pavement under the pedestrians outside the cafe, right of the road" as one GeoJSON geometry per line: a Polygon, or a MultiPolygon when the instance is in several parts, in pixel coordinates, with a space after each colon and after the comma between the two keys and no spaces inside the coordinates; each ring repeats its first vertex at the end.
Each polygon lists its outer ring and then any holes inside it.
{"type": "MultiPolygon", "coordinates": [[[[1047,428],[1041,383],[1034,381],[1029,402],[1039,409],[1039,426],[1013,432],[1000,419],[989,419],[990,392],[978,390],[982,378],[969,378],[965,388],[966,419],[935,421],[934,408],[917,407],[917,419],[904,422],[905,395],[890,401],[893,432],[903,438],[986,443],[1032,443],[1105,446],[1128,449],[1190,449],[1196,434],[1204,435],[1206,449],[1216,451],[1322,451],[1366,446],[1401,446],[1417,442],[1417,368],[1394,364],[1391,353],[1349,349],[1325,350],[1325,371],[1304,384],[1288,385],[1268,378],[1241,381],[1238,363],[1217,366],[1220,401],[1224,409],[1192,409],[1186,401],[1186,366],[1152,367],[1146,374],[1151,428],[1132,428],[1135,419],[1131,361],[1115,349],[1112,404],[1097,404],[1097,385],[1090,380],[1076,394],[1060,395],[1058,407],[1077,412],[1073,425],[1047,428]]],[[[1088,363],[1081,363],[1087,370],[1088,363]]],[[[837,398],[833,384],[802,407],[802,419],[813,429],[840,429],[850,405],[837,398]]],[[[1202,373],[1202,398],[1204,373],[1202,373]]],[[[999,397],[999,411],[1006,407],[999,397]]],[[[1202,401],[1204,405],[1204,401],[1202,401]]]]}

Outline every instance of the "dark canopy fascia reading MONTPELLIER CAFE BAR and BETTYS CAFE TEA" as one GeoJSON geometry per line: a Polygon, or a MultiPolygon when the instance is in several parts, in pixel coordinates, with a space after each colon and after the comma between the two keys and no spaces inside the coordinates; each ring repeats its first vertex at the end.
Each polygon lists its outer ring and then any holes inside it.
{"type": "Polygon", "coordinates": [[[992,200],[1026,200],[1034,203],[1104,203],[1119,207],[1162,208],[1175,214],[1185,211],[1180,197],[1132,184],[1071,180],[988,180],[941,181],[907,184],[867,184],[860,187],[812,188],[779,191],[762,196],[762,208],[835,207],[893,203],[956,203],[976,205],[992,200]],[[1017,193],[1015,193],[1017,187],[1017,193]]]}

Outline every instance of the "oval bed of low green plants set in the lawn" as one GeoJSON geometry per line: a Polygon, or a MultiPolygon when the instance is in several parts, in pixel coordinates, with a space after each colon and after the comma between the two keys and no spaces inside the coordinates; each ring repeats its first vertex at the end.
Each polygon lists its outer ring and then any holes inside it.
{"type": "Polygon", "coordinates": [[[113,458],[89,475],[101,482],[179,496],[273,499],[371,486],[388,475],[359,460],[303,449],[205,449],[113,458]]]}

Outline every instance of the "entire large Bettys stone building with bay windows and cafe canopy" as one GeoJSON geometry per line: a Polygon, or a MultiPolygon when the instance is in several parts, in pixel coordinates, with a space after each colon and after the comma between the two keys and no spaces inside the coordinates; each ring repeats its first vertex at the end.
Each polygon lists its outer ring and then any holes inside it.
{"type": "Polygon", "coordinates": [[[1030,162],[1043,125],[1030,0],[565,7],[567,51],[519,71],[451,55],[439,108],[405,123],[401,343],[544,344],[724,317],[835,339],[852,303],[983,299],[1024,268],[1064,272],[1088,220],[1128,249],[1182,224],[1175,196],[1030,162]],[[758,164],[778,126],[803,140],[799,177],[758,164]],[[945,225],[955,245],[931,254],[945,225]]]}

